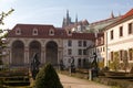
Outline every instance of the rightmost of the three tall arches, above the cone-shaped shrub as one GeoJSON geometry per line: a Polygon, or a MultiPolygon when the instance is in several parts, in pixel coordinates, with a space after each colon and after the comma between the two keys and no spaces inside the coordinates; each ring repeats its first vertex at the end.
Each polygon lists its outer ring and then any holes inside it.
{"type": "Polygon", "coordinates": [[[58,44],[53,41],[47,43],[45,63],[58,65],[58,44]]]}

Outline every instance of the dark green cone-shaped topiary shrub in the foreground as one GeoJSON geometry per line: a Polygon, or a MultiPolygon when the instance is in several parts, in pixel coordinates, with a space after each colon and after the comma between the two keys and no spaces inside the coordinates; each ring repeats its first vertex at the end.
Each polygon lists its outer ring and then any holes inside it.
{"type": "Polygon", "coordinates": [[[63,88],[60,78],[51,64],[47,64],[37,75],[35,88],[63,88]]]}

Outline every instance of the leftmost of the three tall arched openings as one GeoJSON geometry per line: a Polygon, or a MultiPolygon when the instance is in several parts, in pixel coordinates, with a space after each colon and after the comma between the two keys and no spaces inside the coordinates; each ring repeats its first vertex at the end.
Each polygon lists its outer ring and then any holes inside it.
{"type": "Polygon", "coordinates": [[[12,44],[12,65],[24,65],[24,44],[21,41],[12,44]]]}

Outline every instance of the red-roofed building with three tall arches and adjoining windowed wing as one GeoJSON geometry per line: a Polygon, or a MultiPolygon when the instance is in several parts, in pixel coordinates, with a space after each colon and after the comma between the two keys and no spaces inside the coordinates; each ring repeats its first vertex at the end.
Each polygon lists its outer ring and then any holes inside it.
{"type": "Polygon", "coordinates": [[[75,67],[83,67],[86,47],[94,44],[93,37],[91,33],[72,33],[53,25],[17,24],[8,34],[4,62],[10,66],[29,66],[38,53],[41,65],[57,66],[62,61],[69,67],[73,57],[75,67]]]}

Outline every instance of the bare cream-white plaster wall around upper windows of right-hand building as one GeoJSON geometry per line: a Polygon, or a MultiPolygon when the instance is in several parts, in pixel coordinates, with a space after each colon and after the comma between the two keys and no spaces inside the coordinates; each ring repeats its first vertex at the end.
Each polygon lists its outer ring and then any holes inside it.
{"type": "MultiPolygon", "coordinates": [[[[127,51],[129,48],[133,48],[133,34],[129,34],[129,23],[131,22],[133,23],[133,19],[127,20],[126,22],[117,24],[105,31],[104,35],[106,37],[105,43],[108,43],[105,45],[108,61],[111,59],[110,56],[111,52],[119,52],[121,50],[127,51]],[[123,26],[123,36],[120,36],[120,26],[123,26]],[[111,40],[112,30],[113,30],[113,40],[111,40]]],[[[133,61],[130,61],[130,63],[133,63],[133,61]]]]}

